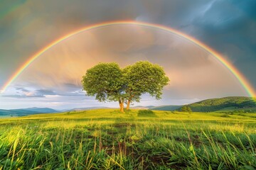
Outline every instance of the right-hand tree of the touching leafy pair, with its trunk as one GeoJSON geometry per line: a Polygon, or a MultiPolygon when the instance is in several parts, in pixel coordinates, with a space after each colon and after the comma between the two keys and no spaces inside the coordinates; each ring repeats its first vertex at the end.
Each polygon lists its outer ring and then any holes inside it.
{"type": "Polygon", "coordinates": [[[162,89],[169,82],[163,67],[146,61],[136,62],[124,68],[124,91],[127,110],[132,101],[140,101],[142,94],[150,94],[157,100],[161,98],[162,89]]]}

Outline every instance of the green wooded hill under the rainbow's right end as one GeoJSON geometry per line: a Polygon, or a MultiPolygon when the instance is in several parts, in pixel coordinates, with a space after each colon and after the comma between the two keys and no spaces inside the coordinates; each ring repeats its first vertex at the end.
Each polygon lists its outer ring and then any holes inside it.
{"type": "Polygon", "coordinates": [[[190,107],[193,112],[256,111],[255,99],[250,97],[212,98],[186,106],[190,107]]]}

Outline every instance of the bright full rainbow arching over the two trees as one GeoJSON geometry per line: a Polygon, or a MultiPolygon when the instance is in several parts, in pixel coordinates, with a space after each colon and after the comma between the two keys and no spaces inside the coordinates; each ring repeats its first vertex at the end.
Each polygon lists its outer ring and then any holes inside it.
{"type": "Polygon", "coordinates": [[[51,42],[49,45],[41,49],[40,51],[36,52],[33,56],[29,58],[26,62],[24,62],[21,67],[19,67],[16,72],[10,77],[8,81],[6,81],[6,84],[4,84],[3,88],[1,89],[0,93],[3,93],[6,91],[7,87],[23,72],[24,69],[26,69],[36,58],[40,57],[44,52],[49,50],[51,47],[54,47],[59,42],[62,42],[63,40],[67,40],[68,38],[72,37],[73,35],[78,35],[79,33],[82,33],[84,31],[92,30],[94,28],[102,28],[105,26],[116,26],[116,25],[136,25],[136,26],[144,26],[148,28],[157,28],[160,30],[167,31],[169,33],[174,33],[176,35],[181,36],[182,38],[186,38],[188,40],[191,40],[194,44],[198,45],[199,47],[202,47],[204,50],[210,52],[219,62],[221,62],[225,67],[228,68],[228,70],[235,76],[236,79],[240,82],[242,87],[245,89],[247,94],[251,97],[255,97],[255,91],[252,89],[252,86],[249,84],[249,82],[245,79],[245,77],[236,69],[228,60],[225,60],[224,57],[222,57],[218,52],[213,50],[212,48],[205,45],[203,42],[200,42],[199,40],[196,40],[195,38],[186,35],[185,33],[181,33],[178,30],[174,30],[173,28],[169,28],[166,26],[161,26],[159,24],[155,23],[144,23],[144,22],[138,22],[138,21],[112,21],[112,22],[106,22],[106,23],[98,23],[91,26],[86,26],[85,28],[81,28],[80,30],[75,30],[72,33],[69,33],[68,35],[65,35],[58,40],[55,40],[51,42]]]}

